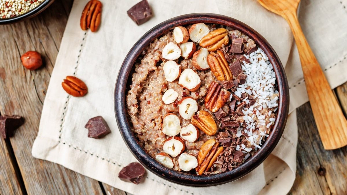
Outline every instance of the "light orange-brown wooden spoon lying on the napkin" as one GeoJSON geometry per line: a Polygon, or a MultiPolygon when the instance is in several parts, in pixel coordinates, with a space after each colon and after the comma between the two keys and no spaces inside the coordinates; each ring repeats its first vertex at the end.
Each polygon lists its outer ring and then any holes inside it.
{"type": "Polygon", "coordinates": [[[304,73],[308,99],[325,150],[347,145],[347,120],[302,32],[296,11],[300,0],[257,0],[285,18],[293,31],[304,73]]]}

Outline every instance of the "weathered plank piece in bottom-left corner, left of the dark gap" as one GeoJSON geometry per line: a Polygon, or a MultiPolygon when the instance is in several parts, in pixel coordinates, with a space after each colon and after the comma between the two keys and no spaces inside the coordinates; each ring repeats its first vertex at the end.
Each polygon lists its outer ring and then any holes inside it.
{"type": "Polygon", "coordinates": [[[7,150],[6,141],[0,137],[0,194],[23,194],[15,168],[7,150]]]}

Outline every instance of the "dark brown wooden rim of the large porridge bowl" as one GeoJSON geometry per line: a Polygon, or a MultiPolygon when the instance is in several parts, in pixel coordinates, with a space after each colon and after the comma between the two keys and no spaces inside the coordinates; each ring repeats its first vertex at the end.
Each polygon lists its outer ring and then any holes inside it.
{"type": "Polygon", "coordinates": [[[187,14],[166,20],[165,22],[156,25],[150,31],[145,33],[135,43],[133,48],[130,49],[119,70],[115,87],[115,113],[117,124],[120,134],[122,135],[129,150],[134,154],[136,159],[141,162],[143,166],[145,166],[148,170],[152,171],[163,179],[185,186],[206,187],[225,184],[251,172],[257,166],[259,166],[259,164],[262,163],[266,159],[266,157],[268,157],[268,155],[277,145],[286,125],[288,109],[289,87],[287,77],[276,52],[272,49],[270,44],[251,27],[234,18],[217,14],[187,14]],[[273,65],[273,69],[277,77],[279,91],[279,108],[277,111],[277,119],[273,126],[273,130],[270,133],[270,136],[266,139],[262,148],[257,151],[254,156],[247,159],[247,161],[241,164],[238,168],[209,176],[191,175],[188,173],[169,169],[162,166],[154,158],[148,155],[143,147],[139,144],[138,140],[134,136],[134,133],[130,129],[131,125],[127,118],[125,102],[127,91],[131,83],[130,74],[132,74],[132,68],[134,66],[135,60],[144,50],[144,48],[149,45],[155,38],[159,37],[163,33],[170,31],[176,26],[185,26],[200,22],[230,26],[243,32],[251,39],[253,39],[257,46],[265,52],[271,64],[273,65]]]}

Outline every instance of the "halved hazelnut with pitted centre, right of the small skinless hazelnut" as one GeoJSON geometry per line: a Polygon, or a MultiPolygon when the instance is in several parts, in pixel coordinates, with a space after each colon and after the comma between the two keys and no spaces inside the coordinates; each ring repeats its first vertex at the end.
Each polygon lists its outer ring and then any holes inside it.
{"type": "Polygon", "coordinates": [[[178,112],[182,118],[189,120],[197,111],[197,102],[192,97],[184,97],[178,102],[178,112]]]}

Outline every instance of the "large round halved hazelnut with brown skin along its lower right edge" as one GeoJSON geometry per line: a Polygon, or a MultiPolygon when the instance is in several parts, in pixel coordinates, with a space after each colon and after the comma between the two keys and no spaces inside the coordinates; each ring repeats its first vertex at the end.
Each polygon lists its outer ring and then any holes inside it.
{"type": "Polygon", "coordinates": [[[196,91],[200,87],[200,76],[191,68],[182,71],[178,78],[178,84],[189,91],[196,91]]]}

